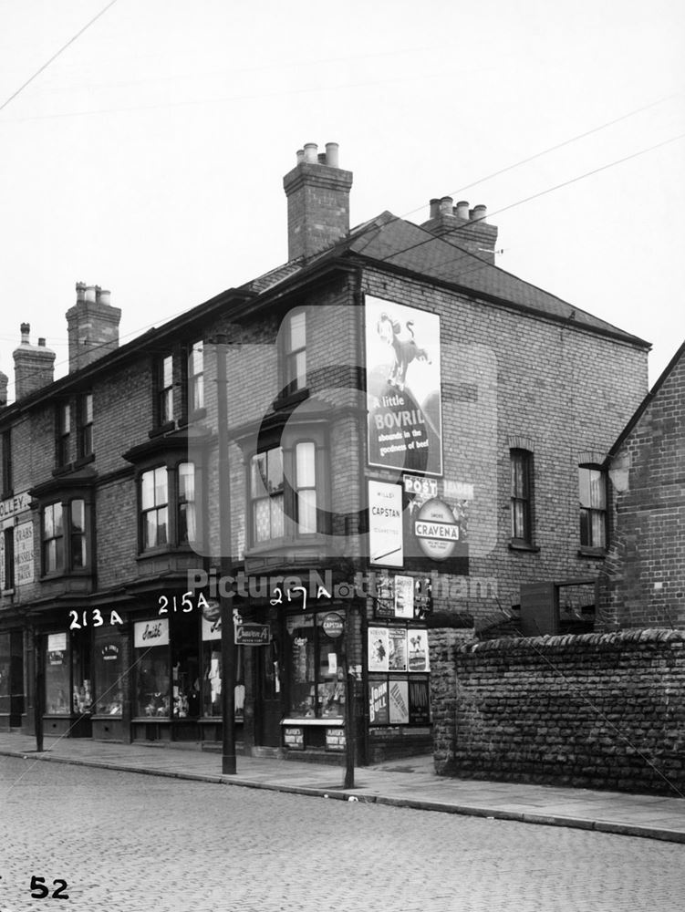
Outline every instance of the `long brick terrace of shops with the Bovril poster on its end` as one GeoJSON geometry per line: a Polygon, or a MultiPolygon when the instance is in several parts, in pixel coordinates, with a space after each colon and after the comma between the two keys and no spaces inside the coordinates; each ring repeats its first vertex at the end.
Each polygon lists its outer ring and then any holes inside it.
{"type": "Polygon", "coordinates": [[[288,262],[125,346],[77,285],[65,378],[22,327],[0,723],[37,696],[48,734],[219,740],[226,596],[244,750],[335,759],[353,699],[358,760],[400,755],[430,743],[431,617],[597,578],[583,492],[649,346],[498,268],[484,207],[349,230],[351,184],[306,146],[288,262]]]}

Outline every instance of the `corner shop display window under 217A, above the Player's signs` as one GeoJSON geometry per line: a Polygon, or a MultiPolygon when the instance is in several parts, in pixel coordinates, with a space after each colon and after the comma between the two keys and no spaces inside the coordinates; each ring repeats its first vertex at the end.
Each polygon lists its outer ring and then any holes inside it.
{"type": "Polygon", "coordinates": [[[331,612],[287,618],[289,714],[331,719],[345,714],[344,637],[329,637],[324,622],[331,612]]]}

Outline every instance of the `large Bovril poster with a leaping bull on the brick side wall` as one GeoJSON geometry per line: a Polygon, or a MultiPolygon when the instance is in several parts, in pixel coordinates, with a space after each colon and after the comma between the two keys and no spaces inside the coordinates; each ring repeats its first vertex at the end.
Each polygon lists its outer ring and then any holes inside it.
{"type": "Polygon", "coordinates": [[[440,317],[367,295],[368,461],[442,473],[440,317]]]}

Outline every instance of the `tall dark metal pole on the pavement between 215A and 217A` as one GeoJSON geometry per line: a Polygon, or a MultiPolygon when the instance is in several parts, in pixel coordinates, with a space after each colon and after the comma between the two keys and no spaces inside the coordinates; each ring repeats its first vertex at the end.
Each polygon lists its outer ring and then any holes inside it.
{"type": "Polygon", "coordinates": [[[231,477],[228,462],[228,396],[226,391],[227,337],[216,338],[216,407],[219,436],[219,540],[221,575],[219,604],[222,618],[222,773],[235,774],[235,661],[233,601],[226,579],[233,575],[231,556],[231,477]]]}

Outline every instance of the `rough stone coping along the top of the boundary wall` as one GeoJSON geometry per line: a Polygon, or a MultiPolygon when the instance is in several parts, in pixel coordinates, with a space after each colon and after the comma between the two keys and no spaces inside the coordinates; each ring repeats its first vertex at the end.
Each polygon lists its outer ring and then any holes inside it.
{"type": "Polygon", "coordinates": [[[611,633],[566,634],[557,637],[502,637],[459,647],[462,653],[492,652],[552,652],[569,647],[620,647],[638,643],[670,643],[673,646],[685,644],[685,630],[649,627],[647,629],[616,630],[611,633]]]}

